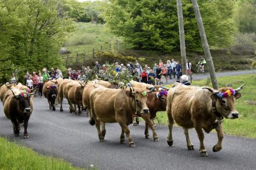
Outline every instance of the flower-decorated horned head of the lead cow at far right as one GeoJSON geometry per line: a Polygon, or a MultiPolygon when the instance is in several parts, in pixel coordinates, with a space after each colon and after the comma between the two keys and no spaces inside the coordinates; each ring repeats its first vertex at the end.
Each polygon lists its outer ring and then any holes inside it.
{"type": "Polygon", "coordinates": [[[228,87],[221,88],[212,93],[212,103],[216,104],[216,111],[218,111],[221,116],[227,119],[239,118],[239,114],[235,107],[235,100],[241,97],[241,93],[238,93],[238,91],[240,91],[243,86],[245,86],[245,84],[237,89],[228,87]]]}

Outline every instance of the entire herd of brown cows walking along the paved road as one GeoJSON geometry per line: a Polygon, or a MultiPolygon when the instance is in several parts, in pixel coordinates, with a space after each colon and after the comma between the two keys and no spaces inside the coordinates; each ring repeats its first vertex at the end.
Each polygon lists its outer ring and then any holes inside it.
{"type": "MultiPolygon", "coordinates": [[[[244,86],[244,85],[243,85],[244,86]]],[[[104,141],[106,123],[118,123],[121,127],[120,143],[125,143],[125,135],[129,146],[134,147],[128,125],[134,122],[134,116],[145,120],[145,137],[149,138],[148,127],[151,128],[154,141],[158,141],[153,119],[156,112],[166,111],[168,116],[168,145],[172,146],[173,123],[184,128],[188,150],[194,150],[189,139],[189,128],[195,128],[200,140],[200,155],[207,156],[204,147],[204,132],[215,129],[218,143],[212,148],[220,151],[223,139],[223,118],[239,117],[234,101],[241,97],[243,86],[218,90],[209,87],[185,86],[176,82],[172,88],[152,86],[141,82],[130,81],[127,86],[119,88],[107,81],[80,82],[69,79],[57,79],[44,84],[44,97],[49,102],[49,109],[55,111],[60,104],[63,112],[63,98],[67,98],[69,111],[81,114],[86,109],[90,116],[90,125],[97,128],[99,141],[104,141]]],[[[0,88],[0,98],[4,105],[4,114],[13,123],[13,133],[19,136],[20,123],[24,125],[24,138],[28,138],[28,120],[33,111],[33,95],[36,89],[29,89],[22,84],[10,86],[6,83],[0,88]]]]}

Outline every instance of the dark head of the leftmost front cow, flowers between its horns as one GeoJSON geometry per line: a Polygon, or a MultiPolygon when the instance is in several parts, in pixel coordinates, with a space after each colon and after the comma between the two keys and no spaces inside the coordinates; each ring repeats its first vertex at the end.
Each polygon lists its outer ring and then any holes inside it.
{"type": "Polygon", "coordinates": [[[18,94],[13,93],[13,98],[19,102],[19,109],[24,113],[24,115],[31,114],[32,112],[30,105],[32,95],[35,95],[35,92],[31,93],[31,89],[20,90],[18,94]]]}

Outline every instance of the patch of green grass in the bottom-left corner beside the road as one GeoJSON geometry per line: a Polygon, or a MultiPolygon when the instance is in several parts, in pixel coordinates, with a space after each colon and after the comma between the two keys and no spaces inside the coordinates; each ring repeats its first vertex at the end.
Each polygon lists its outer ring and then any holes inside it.
{"type": "Polygon", "coordinates": [[[63,160],[42,156],[0,137],[0,169],[79,169],[63,160]]]}

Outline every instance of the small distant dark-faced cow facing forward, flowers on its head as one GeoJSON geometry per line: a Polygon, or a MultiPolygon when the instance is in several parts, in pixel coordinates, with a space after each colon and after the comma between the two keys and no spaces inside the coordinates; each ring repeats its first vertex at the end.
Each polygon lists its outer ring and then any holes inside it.
{"type": "Polygon", "coordinates": [[[43,86],[43,94],[44,97],[47,98],[47,101],[49,103],[49,109],[52,111],[55,111],[55,102],[56,97],[58,95],[58,86],[56,86],[56,81],[47,81],[45,82],[43,86]]]}

